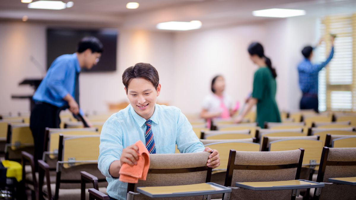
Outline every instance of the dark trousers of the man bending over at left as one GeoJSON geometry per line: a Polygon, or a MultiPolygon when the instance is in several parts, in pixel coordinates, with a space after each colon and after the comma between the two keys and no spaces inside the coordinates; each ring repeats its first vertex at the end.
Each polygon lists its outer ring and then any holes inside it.
{"type": "Polygon", "coordinates": [[[37,102],[31,112],[30,129],[32,131],[33,141],[35,142],[35,169],[38,170],[37,160],[42,159],[45,143],[45,131],[48,128],[58,128],[59,108],[45,102],[37,102]]]}

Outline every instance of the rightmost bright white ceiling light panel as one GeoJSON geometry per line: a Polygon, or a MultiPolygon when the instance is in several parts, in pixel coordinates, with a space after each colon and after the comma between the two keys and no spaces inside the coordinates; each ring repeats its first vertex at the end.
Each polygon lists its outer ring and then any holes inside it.
{"type": "Polygon", "coordinates": [[[279,8],[272,8],[272,9],[265,9],[265,10],[255,10],[252,12],[253,16],[258,17],[294,17],[305,15],[305,10],[294,10],[294,9],[279,9],[279,8]]]}

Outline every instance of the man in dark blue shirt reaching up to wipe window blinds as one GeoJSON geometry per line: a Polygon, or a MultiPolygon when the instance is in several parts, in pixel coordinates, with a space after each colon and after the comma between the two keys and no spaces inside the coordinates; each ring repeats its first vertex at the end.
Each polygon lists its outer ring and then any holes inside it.
{"type": "MultiPolygon", "coordinates": [[[[318,112],[318,75],[321,69],[323,69],[330,62],[334,56],[334,39],[331,36],[331,52],[328,58],[320,64],[312,64],[310,60],[313,57],[313,47],[306,46],[302,50],[304,60],[298,64],[299,73],[299,88],[302,90],[303,96],[300,100],[300,109],[314,109],[318,112]]],[[[321,42],[321,41],[320,41],[321,42]]],[[[320,44],[320,43],[319,43],[320,44]]]]}

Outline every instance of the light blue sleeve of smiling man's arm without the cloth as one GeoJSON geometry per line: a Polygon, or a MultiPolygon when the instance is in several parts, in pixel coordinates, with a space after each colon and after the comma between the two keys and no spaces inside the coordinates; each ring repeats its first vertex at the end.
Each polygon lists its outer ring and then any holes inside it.
{"type": "Polygon", "coordinates": [[[177,138],[176,143],[180,153],[194,153],[204,151],[204,145],[201,143],[193,131],[187,117],[179,110],[177,119],[177,138]]]}

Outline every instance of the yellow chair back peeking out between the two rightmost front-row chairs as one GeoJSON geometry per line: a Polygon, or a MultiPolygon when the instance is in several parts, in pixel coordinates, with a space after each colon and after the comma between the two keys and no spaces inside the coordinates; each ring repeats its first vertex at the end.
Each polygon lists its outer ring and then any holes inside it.
{"type": "MultiPolygon", "coordinates": [[[[309,167],[311,163],[319,164],[321,158],[321,150],[324,143],[314,139],[283,139],[269,143],[269,151],[288,151],[297,148],[304,149],[303,166],[309,167]]],[[[319,166],[315,167],[315,170],[319,166]]]]}

